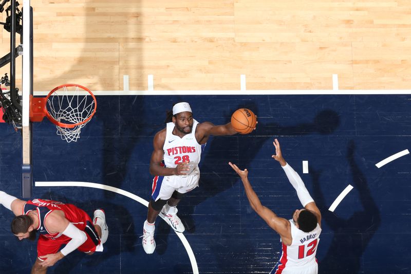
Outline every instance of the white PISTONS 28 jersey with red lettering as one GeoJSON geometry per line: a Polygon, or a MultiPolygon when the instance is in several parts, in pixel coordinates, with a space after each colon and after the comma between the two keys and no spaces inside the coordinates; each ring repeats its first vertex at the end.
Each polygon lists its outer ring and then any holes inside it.
{"type": "MultiPolygon", "coordinates": [[[[167,123],[164,141],[164,165],[166,168],[175,168],[180,162],[190,162],[190,171],[198,171],[201,159],[202,145],[196,140],[195,132],[198,122],[193,119],[193,128],[190,134],[182,138],[173,134],[174,123],[167,123]]],[[[188,174],[189,174],[188,173],[188,174]]],[[[197,173],[198,175],[198,173],[197,173]]]]}

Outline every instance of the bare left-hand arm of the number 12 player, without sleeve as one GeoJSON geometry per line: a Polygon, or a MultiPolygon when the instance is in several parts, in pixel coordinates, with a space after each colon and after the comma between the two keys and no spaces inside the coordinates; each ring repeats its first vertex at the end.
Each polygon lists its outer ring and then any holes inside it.
{"type": "Polygon", "coordinates": [[[290,222],[285,218],[278,217],[272,210],[269,208],[261,205],[260,199],[258,198],[257,194],[251,187],[250,181],[248,180],[248,170],[240,170],[236,165],[229,162],[231,168],[237,172],[240,176],[242,184],[244,185],[244,189],[246,191],[246,195],[248,201],[251,205],[251,208],[261,217],[264,221],[274,229],[280,236],[282,241],[289,245],[291,244],[291,232],[290,232],[290,222]]]}

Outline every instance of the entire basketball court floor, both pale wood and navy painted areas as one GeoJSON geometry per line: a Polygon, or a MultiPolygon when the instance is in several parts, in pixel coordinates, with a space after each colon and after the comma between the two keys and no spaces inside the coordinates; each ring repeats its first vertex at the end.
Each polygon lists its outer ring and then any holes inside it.
{"type": "MultiPolygon", "coordinates": [[[[228,121],[234,109],[247,106],[256,109],[259,129],[252,136],[211,140],[202,166],[206,184],[181,205],[200,273],[268,272],[278,260],[277,235],[250,210],[238,178],[226,169],[226,161],[234,158],[255,170],[263,202],[275,209],[273,197],[285,197],[279,214],[288,217],[297,204],[294,192],[278,187],[286,181],[266,168],[273,136],[285,139],[296,167],[307,155],[315,162],[304,180],[325,215],[320,273],[409,272],[409,157],[375,167],[408,148],[409,96],[115,96],[124,89],[124,75],[130,90],[146,90],[147,75],[154,76],[155,90],[238,90],[245,75],[249,90],[321,93],[332,89],[333,74],[340,89],[409,89],[409,1],[42,0],[31,5],[34,90],[71,82],[112,95],[99,99],[103,111],[77,144],[61,143],[46,122],[35,125],[34,180],[101,182],[148,199],[152,138],[173,101],[190,100],[198,120],[214,123],[228,121]],[[330,112],[338,119],[330,120],[330,112]],[[324,122],[338,125],[324,133],[324,122]],[[79,154],[81,165],[73,165],[79,154]],[[348,183],[356,189],[337,213],[328,212],[348,183]],[[215,208],[221,204],[226,207],[215,208]]],[[[4,22],[5,13],[1,16],[4,22]]],[[[3,54],[9,52],[9,40],[3,30],[3,54]]],[[[5,72],[8,66],[0,75],[5,72]]],[[[17,73],[17,86],[20,82],[17,73]]],[[[0,126],[1,184],[18,195],[21,140],[10,126],[0,126]]],[[[138,237],[144,206],[89,189],[37,188],[34,193],[88,212],[102,202],[114,224],[105,253],[92,259],[74,254],[50,272],[192,272],[181,242],[167,226],[159,225],[154,257],[142,251],[138,237]]],[[[5,223],[8,213],[0,211],[5,223]]],[[[12,250],[0,259],[0,272],[28,272],[35,245],[16,243],[8,225],[0,228],[0,238],[3,250],[12,250]]]]}

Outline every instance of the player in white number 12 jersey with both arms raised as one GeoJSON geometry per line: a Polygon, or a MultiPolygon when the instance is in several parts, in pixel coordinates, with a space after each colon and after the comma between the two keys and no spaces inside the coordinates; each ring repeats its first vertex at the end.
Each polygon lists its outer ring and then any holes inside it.
{"type": "Polygon", "coordinates": [[[266,221],[281,237],[283,253],[272,274],[316,274],[318,265],[315,253],[321,233],[321,213],[308,193],[303,180],[284,160],[277,139],[273,142],[275,155],[272,157],[283,167],[291,185],[297,191],[303,209],[296,209],[291,220],[278,217],[261,205],[248,180],[248,171],[240,170],[231,162],[229,165],[240,175],[252,209],[266,221]]]}

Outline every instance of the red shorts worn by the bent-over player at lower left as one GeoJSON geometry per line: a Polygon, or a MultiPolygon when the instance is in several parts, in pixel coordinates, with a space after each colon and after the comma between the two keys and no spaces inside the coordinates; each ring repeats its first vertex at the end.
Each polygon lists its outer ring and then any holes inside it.
{"type": "MultiPolygon", "coordinates": [[[[99,235],[92,225],[91,218],[88,217],[88,219],[89,220],[86,222],[86,227],[83,230],[86,232],[87,240],[77,248],[79,251],[86,253],[96,251],[96,247],[100,244],[99,235]]],[[[41,257],[44,255],[57,253],[62,245],[65,245],[70,241],[71,238],[68,238],[66,235],[61,235],[59,238],[55,238],[54,240],[47,238],[44,235],[40,235],[39,241],[37,242],[37,256],[41,257]]],[[[41,258],[39,258],[39,260],[44,261],[41,258]]]]}

